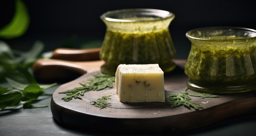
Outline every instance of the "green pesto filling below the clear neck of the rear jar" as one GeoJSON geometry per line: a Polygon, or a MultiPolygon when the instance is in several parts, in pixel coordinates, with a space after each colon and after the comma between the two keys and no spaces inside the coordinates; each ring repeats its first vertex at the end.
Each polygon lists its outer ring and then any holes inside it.
{"type": "Polygon", "coordinates": [[[164,72],[175,68],[175,48],[169,29],[120,32],[107,29],[100,57],[102,72],[113,75],[119,64],[159,64],[164,72]]]}

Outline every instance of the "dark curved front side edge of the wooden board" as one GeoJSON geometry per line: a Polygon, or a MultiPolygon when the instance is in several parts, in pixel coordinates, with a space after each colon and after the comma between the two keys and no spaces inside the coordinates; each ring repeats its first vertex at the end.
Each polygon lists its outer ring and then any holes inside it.
{"type": "Polygon", "coordinates": [[[218,107],[195,112],[151,119],[118,119],[85,115],[61,107],[55,103],[53,98],[51,100],[51,110],[57,122],[81,130],[109,132],[109,130],[115,128],[114,133],[130,132],[131,130],[133,132],[170,133],[201,127],[235,116],[256,113],[256,97],[242,98],[221,104],[218,107]],[[233,106],[236,106],[236,108],[232,108],[233,106]]]}

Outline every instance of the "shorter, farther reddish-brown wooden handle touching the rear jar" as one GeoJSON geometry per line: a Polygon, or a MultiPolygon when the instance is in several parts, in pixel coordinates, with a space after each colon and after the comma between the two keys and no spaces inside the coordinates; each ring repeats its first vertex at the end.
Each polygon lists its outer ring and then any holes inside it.
{"type": "Polygon", "coordinates": [[[95,61],[99,60],[100,49],[58,48],[54,50],[52,58],[66,61],[95,61]]]}

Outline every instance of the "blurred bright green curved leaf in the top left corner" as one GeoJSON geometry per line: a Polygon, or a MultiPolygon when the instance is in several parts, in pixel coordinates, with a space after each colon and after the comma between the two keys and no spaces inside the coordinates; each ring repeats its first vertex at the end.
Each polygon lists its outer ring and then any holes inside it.
{"type": "Polygon", "coordinates": [[[17,38],[23,35],[29,26],[29,13],[22,0],[15,1],[15,13],[10,23],[0,29],[0,37],[17,38]]]}

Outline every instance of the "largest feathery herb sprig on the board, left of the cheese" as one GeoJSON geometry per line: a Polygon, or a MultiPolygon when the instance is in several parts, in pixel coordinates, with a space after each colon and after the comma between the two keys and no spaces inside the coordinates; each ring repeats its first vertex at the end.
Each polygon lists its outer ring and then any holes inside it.
{"type": "Polygon", "coordinates": [[[79,98],[82,99],[80,96],[83,96],[85,92],[91,91],[91,90],[103,90],[105,88],[113,88],[115,82],[115,77],[110,75],[101,75],[96,74],[94,75],[94,78],[88,79],[85,83],[79,83],[81,87],[76,87],[71,90],[67,90],[65,93],[67,96],[61,98],[64,101],[70,101],[72,98],[79,98]]]}

